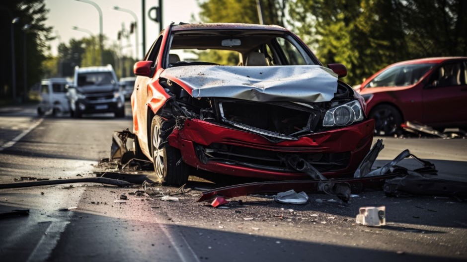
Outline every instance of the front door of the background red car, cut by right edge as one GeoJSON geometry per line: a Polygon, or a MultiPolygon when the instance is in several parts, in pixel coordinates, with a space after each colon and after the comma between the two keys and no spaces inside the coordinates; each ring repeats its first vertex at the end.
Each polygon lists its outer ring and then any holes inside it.
{"type": "Polygon", "coordinates": [[[423,88],[423,121],[449,125],[467,121],[466,60],[443,63],[423,88]]]}

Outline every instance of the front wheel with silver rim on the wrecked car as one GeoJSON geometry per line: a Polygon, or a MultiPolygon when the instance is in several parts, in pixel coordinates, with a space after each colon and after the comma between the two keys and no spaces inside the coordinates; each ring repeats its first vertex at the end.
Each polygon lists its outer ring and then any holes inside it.
{"type": "Polygon", "coordinates": [[[171,147],[167,142],[173,126],[173,123],[168,123],[157,115],[151,123],[154,171],[163,185],[182,185],[188,181],[189,166],[183,162],[180,150],[171,147]]]}

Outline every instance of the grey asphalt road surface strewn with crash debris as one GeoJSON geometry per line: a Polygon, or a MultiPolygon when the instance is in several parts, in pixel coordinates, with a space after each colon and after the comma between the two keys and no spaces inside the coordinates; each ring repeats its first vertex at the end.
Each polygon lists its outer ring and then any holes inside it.
{"type": "MultiPolygon", "coordinates": [[[[0,183],[22,176],[94,176],[98,161],[109,157],[112,132],[131,130],[129,110],[125,119],[39,118],[35,110],[0,108],[0,183]]],[[[467,175],[464,139],[385,138],[384,143],[375,168],[409,149],[433,162],[440,175],[467,175]]],[[[348,203],[325,194],[310,194],[305,205],[255,195],[232,199],[242,205],[231,201],[213,208],[196,202],[202,187],[213,185],[192,187],[178,202],[129,194],[141,187],[96,183],[0,189],[0,213],[30,210],[27,216],[0,218],[0,261],[467,260],[467,206],[456,199],[366,190],[348,203]],[[123,193],[126,202],[115,202],[123,193]],[[386,226],[355,224],[359,207],[381,205],[386,226]],[[76,209],[60,211],[70,207],[76,209]]]]}

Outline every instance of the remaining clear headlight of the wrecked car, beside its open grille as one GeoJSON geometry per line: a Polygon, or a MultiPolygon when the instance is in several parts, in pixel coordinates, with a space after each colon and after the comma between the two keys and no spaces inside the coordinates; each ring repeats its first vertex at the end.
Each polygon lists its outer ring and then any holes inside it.
{"type": "Polygon", "coordinates": [[[355,100],[326,111],[323,126],[345,126],[363,120],[360,103],[355,100]]]}

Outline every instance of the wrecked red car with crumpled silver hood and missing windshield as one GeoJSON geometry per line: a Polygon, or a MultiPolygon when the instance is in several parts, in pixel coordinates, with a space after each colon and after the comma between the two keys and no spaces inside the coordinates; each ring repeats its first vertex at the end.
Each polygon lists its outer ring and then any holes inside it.
{"type": "Polygon", "coordinates": [[[345,67],[323,67],[283,27],[172,24],[134,73],[135,153],[154,162],[164,184],[184,183],[192,168],[310,178],[297,171],[300,161],[349,177],[370,150],[374,120],[338,80],[345,67]]]}

